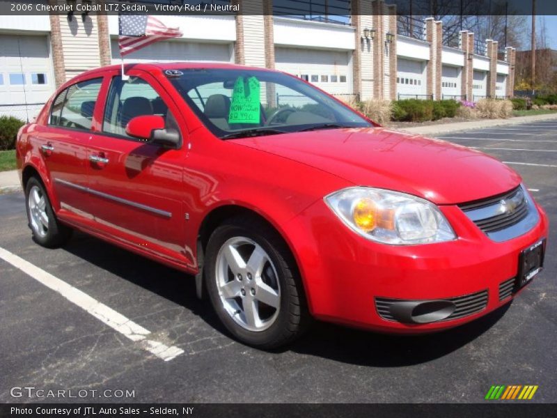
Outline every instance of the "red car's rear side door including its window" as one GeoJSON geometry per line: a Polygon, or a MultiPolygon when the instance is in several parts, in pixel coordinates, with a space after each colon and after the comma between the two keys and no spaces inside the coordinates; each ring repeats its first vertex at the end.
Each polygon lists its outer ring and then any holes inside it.
{"type": "Polygon", "coordinates": [[[53,102],[47,125],[37,125],[31,133],[49,171],[59,215],[76,222],[91,219],[86,199],[87,146],[102,82],[102,77],[95,77],[65,88],[53,102]]]}

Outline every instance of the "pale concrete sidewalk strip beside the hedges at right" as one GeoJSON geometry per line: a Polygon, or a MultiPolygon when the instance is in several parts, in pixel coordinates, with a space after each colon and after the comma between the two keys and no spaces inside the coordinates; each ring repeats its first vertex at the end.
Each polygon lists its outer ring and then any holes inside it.
{"type": "Polygon", "coordinates": [[[557,121],[557,114],[534,115],[534,116],[518,116],[508,119],[479,119],[471,122],[446,123],[444,125],[426,125],[413,126],[406,129],[399,129],[403,132],[421,135],[439,135],[453,132],[462,132],[466,130],[483,129],[486,127],[496,127],[503,125],[520,125],[521,123],[537,122],[537,121],[557,121]]]}

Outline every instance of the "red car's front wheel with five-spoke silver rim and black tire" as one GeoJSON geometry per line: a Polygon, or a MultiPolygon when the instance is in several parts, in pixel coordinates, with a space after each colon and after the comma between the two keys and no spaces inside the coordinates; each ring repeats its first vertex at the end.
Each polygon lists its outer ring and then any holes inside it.
{"type": "Polygon", "coordinates": [[[207,244],[205,280],[217,316],[249,346],[283,346],[309,323],[296,263],[265,222],[238,217],[215,229],[207,244]]]}

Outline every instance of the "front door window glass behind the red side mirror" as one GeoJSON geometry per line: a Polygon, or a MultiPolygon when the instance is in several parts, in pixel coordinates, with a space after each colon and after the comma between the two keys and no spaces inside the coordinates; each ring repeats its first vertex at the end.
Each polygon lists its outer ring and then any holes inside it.
{"type": "MultiPolygon", "coordinates": [[[[110,86],[107,107],[104,109],[102,130],[111,134],[129,137],[126,125],[136,116],[157,115],[167,119],[168,107],[148,82],[139,77],[123,81],[114,77],[110,86]]],[[[170,121],[167,121],[169,123],[170,121]]]]}

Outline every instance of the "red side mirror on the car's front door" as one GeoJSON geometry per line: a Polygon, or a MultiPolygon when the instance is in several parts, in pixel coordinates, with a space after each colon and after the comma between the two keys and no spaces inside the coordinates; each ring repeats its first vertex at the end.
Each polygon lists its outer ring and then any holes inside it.
{"type": "Polygon", "coordinates": [[[143,139],[153,144],[178,148],[180,134],[174,129],[165,129],[164,118],[157,115],[143,115],[132,118],[126,125],[130,137],[143,139]]]}

